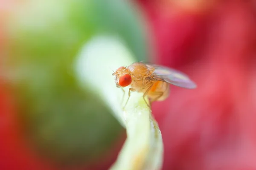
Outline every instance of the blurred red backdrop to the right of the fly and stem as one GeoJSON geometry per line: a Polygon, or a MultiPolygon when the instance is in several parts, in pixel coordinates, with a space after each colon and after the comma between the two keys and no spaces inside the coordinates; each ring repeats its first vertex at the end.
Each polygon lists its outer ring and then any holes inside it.
{"type": "Polygon", "coordinates": [[[198,84],[193,91],[172,87],[169,99],[153,104],[163,170],[255,170],[255,1],[190,0],[191,8],[138,1],[153,28],[157,62],[198,84]]]}

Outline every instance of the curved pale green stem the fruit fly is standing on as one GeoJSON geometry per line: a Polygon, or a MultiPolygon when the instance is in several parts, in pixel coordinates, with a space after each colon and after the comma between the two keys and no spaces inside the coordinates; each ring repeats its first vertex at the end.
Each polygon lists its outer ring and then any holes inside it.
{"type": "Polygon", "coordinates": [[[159,170],[163,161],[163,142],[157,122],[143,100],[143,94],[116,88],[112,70],[136,62],[118,37],[98,36],[87,42],[75,64],[80,85],[94,91],[113,111],[127,131],[127,139],[111,170],[159,170]]]}

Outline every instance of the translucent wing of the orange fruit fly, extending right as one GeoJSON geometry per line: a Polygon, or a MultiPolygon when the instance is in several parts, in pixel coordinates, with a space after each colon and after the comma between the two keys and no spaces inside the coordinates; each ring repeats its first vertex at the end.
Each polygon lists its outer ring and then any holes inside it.
{"type": "Polygon", "coordinates": [[[154,77],[162,79],[170,84],[182,87],[182,88],[196,88],[197,85],[189,77],[175,69],[163,67],[160,65],[148,65],[154,68],[154,77]]]}

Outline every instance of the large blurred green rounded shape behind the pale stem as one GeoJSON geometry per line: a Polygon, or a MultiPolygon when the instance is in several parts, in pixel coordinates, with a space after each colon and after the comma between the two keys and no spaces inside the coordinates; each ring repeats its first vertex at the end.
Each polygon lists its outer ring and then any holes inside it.
{"type": "Polygon", "coordinates": [[[136,8],[125,0],[12,5],[5,73],[27,139],[41,155],[61,164],[91,161],[125,132],[97,94],[79,87],[73,64],[81,46],[98,34],[121,37],[134,57],[145,61],[136,8]]]}

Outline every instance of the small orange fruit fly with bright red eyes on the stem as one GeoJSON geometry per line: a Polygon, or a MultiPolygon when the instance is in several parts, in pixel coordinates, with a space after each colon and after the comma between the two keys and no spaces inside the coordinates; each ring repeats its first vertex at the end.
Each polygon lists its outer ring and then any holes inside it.
{"type": "MultiPolygon", "coordinates": [[[[131,91],[142,92],[145,102],[145,96],[148,96],[149,105],[151,105],[152,102],[163,101],[169,96],[170,84],[182,88],[196,88],[195,82],[180,71],[143,62],[135,62],[128,67],[119,67],[113,73],[113,76],[116,87],[130,86],[125,106],[130,98],[131,91]]],[[[148,105],[147,102],[146,104],[148,105]]],[[[150,107],[149,105],[148,107],[150,107]]]]}

